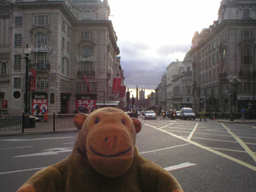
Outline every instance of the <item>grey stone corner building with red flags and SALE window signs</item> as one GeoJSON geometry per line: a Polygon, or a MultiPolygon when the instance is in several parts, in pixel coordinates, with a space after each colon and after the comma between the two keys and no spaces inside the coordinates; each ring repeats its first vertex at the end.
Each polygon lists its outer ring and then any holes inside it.
{"type": "Polygon", "coordinates": [[[113,78],[124,85],[124,74],[107,0],[2,0],[0,7],[0,102],[7,103],[2,110],[24,109],[26,45],[30,111],[40,102],[48,113],[122,108],[124,99],[111,92],[113,78]]]}

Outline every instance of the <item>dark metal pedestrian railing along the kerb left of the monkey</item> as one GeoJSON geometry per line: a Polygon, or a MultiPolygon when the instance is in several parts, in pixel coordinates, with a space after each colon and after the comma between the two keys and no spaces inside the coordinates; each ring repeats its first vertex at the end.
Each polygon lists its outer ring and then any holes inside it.
{"type": "Polygon", "coordinates": [[[1,134],[24,134],[78,130],[74,126],[75,114],[18,114],[0,115],[1,134]]]}

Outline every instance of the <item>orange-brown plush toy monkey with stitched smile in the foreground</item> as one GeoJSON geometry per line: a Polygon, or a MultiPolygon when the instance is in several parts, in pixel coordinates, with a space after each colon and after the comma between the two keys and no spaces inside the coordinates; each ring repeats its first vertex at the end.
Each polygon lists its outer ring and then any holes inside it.
{"type": "Polygon", "coordinates": [[[72,154],[38,171],[18,192],[183,191],[168,171],[138,154],[137,118],[102,108],[77,114],[74,124],[81,130],[72,154]]]}

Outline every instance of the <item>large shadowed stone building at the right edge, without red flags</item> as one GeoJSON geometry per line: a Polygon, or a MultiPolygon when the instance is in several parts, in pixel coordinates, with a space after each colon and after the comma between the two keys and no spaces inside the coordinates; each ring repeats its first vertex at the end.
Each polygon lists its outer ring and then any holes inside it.
{"type": "Polygon", "coordinates": [[[256,1],[222,0],[218,21],[192,40],[197,111],[239,113],[255,100],[256,1]]]}

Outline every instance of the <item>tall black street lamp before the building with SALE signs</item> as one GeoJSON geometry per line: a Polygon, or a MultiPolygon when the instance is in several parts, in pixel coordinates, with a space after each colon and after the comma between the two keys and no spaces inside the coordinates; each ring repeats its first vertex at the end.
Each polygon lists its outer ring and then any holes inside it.
{"type": "Polygon", "coordinates": [[[30,112],[30,107],[28,106],[28,98],[30,97],[29,96],[29,86],[28,86],[28,78],[29,78],[29,62],[30,62],[30,58],[29,58],[29,55],[30,55],[30,52],[31,52],[31,49],[29,47],[29,45],[27,44],[26,45],[26,48],[24,49],[24,54],[26,55],[25,57],[25,62],[26,62],[26,86],[25,86],[25,96],[24,96],[24,103],[25,103],[25,109],[24,109],[24,112],[26,114],[28,114],[30,112]]]}

